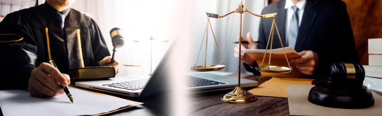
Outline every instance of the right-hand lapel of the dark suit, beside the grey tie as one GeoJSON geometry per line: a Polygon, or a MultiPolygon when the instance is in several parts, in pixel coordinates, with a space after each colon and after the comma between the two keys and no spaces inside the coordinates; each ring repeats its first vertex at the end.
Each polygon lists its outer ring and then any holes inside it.
{"type": "Polygon", "coordinates": [[[318,0],[306,0],[305,11],[302,14],[302,22],[299,28],[299,34],[297,36],[296,47],[295,50],[300,52],[302,50],[303,43],[306,40],[307,35],[316,20],[317,12],[314,9],[314,5],[316,5],[318,0]]]}

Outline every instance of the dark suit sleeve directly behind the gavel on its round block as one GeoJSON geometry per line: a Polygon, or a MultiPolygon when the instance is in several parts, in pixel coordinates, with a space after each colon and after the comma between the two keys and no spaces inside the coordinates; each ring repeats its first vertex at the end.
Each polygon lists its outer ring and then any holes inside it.
{"type": "MultiPolygon", "coordinates": [[[[333,10],[333,34],[329,43],[330,52],[327,55],[318,56],[318,68],[312,77],[327,76],[328,68],[332,63],[358,63],[357,51],[353,32],[351,30],[350,19],[346,11],[346,4],[341,0],[334,0],[335,10],[333,10]]],[[[332,2],[332,3],[333,3],[332,2]]],[[[322,53],[321,53],[322,54],[322,53]]]]}

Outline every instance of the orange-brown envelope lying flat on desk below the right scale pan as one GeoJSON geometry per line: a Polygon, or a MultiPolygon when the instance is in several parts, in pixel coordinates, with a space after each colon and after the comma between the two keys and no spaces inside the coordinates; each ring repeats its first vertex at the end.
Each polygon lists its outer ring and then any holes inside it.
{"type": "Polygon", "coordinates": [[[286,85],[312,85],[314,79],[301,78],[278,78],[272,77],[270,80],[249,90],[255,96],[269,96],[287,98],[286,85]]]}

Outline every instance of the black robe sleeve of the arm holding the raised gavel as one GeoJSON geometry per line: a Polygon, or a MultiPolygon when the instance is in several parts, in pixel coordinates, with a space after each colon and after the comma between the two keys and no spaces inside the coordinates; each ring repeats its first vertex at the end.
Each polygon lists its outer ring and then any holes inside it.
{"type": "Polygon", "coordinates": [[[108,49],[108,46],[106,45],[106,42],[102,36],[101,30],[99,30],[96,22],[91,19],[90,28],[91,29],[91,38],[92,38],[92,48],[94,53],[94,60],[97,64],[96,66],[99,66],[99,62],[107,57],[110,56],[110,52],[108,49]]]}

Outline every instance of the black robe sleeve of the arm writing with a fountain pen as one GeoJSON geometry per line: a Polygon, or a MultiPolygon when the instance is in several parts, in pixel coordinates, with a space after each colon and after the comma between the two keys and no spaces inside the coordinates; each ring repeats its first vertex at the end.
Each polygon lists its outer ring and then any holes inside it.
{"type": "Polygon", "coordinates": [[[21,14],[8,14],[0,23],[0,90],[27,89],[36,68],[37,46],[21,14]]]}

